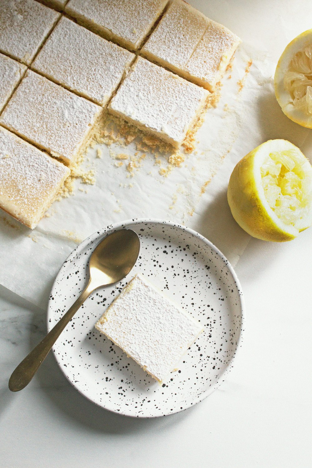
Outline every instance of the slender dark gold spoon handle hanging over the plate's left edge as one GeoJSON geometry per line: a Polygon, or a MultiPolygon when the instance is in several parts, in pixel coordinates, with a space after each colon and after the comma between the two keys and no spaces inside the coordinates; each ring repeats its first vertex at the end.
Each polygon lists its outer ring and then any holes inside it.
{"type": "Polygon", "coordinates": [[[9,389],[11,392],[18,392],[29,384],[48,352],[51,350],[53,344],[58,339],[58,336],[93,290],[94,287],[91,287],[91,281],[89,281],[87,287],[81,292],[80,296],[75,300],[66,314],[63,315],[58,323],[49,331],[47,336],[37,344],[36,348],[30,351],[29,355],[16,367],[9,380],[9,389]]]}

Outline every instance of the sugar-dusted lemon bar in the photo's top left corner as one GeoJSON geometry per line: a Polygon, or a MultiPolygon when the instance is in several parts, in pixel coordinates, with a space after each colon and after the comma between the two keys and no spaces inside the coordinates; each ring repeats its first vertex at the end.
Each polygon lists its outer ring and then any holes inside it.
{"type": "Polygon", "coordinates": [[[0,51],[29,65],[59,16],[35,0],[1,0],[0,51]]]}

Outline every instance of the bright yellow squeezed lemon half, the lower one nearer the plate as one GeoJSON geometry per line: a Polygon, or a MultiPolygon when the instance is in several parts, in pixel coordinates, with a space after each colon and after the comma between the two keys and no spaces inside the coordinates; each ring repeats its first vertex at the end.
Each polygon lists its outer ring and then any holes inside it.
{"type": "Polygon", "coordinates": [[[290,241],[312,225],[312,166],[289,141],[268,140],[235,166],[227,199],[248,234],[290,241]]]}

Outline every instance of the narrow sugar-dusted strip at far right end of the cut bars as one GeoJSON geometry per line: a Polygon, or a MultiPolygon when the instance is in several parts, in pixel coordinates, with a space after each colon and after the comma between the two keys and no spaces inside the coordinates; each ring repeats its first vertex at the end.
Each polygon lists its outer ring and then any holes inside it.
{"type": "Polygon", "coordinates": [[[229,29],[211,22],[185,70],[214,88],[239,43],[240,39],[229,29]]]}

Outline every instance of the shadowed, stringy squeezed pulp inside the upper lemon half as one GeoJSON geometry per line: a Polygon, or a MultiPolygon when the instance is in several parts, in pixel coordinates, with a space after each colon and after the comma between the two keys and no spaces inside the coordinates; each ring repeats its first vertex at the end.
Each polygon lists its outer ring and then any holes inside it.
{"type": "Polygon", "coordinates": [[[284,75],[284,87],[294,107],[312,116],[312,44],[298,51],[284,75]]]}

